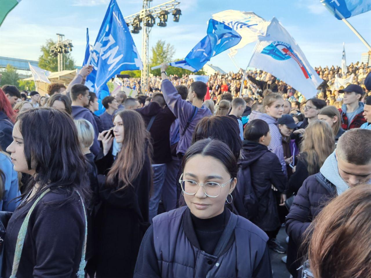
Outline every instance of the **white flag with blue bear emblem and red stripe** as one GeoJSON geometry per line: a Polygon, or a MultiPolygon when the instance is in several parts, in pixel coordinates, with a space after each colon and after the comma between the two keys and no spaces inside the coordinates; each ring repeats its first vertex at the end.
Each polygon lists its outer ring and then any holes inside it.
{"type": "Polygon", "coordinates": [[[315,96],[317,87],[323,82],[275,17],[270,21],[266,36],[259,36],[249,67],[269,72],[301,92],[306,99],[315,96]]]}

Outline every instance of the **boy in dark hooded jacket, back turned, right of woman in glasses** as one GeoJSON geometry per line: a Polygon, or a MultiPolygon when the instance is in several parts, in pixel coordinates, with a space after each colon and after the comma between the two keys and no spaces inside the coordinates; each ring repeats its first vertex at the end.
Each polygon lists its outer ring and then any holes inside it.
{"type": "Polygon", "coordinates": [[[285,253],[276,236],[281,226],[278,203],[287,180],[278,157],[267,148],[270,143],[268,124],[260,119],[252,120],[244,130],[244,138],[237,189],[250,221],[269,236],[269,248],[285,253]]]}

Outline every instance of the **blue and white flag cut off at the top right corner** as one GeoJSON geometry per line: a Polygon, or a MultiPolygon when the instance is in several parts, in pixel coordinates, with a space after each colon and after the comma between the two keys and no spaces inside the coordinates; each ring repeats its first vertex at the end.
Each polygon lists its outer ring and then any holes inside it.
{"type": "Polygon", "coordinates": [[[371,10],[370,0],[321,0],[337,19],[349,18],[371,10]]]}

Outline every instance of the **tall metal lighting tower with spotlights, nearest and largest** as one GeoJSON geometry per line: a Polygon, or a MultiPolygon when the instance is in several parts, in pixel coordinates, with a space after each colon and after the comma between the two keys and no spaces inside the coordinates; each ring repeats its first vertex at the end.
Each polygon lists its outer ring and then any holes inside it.
{"type": "Polygon", "coordinates": [[[150,76],[150,63],[149,63],[149,44],[150,44],[150,32],[152,26],[155,24],[155,18],[160,19],[157,23],[160,27],[166,26],[167,15],[172,13],[174,16],[173,21],[178,22],[179,16],[181,15],[181,10],[178,9],[180,4],[179,1],[171,0],[162,3],[158,6],[151,8],[152,0],[143,0],[142,10],[138,13],[131,14],[125,17],[125,22],[128,26],[132,26],[133,30],[131,33],[138,34],[139,30],[142,30],[142,61],[143,69],[141,72],[141,89],[145,92],[149,89],[149,76],[150,76]],[[142,23],[142,26],[141,26],[142,23]]]}

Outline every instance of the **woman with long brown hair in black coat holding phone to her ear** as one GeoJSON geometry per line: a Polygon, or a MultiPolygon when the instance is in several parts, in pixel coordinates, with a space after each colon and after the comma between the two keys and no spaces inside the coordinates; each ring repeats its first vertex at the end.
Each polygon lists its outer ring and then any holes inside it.
{"type": "Polygon", "coordinates": [[[114,118],[113,133],[121,150],[114,160],[113,137],[101,133],[103,157],[98,171],[106,174],[99,188],[101,207],[96,216],[96,277],[132,277],[142,237],[149,226],[148,199],[152,183],[150,133],[142,116],[123,110],[114,118]]]}

